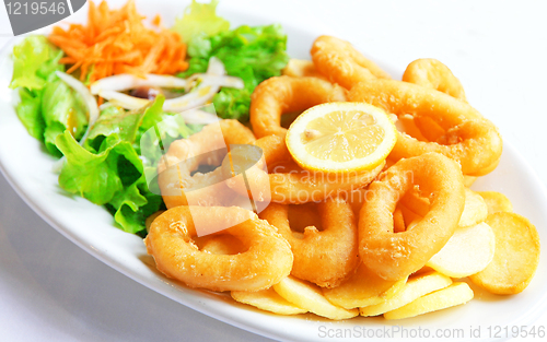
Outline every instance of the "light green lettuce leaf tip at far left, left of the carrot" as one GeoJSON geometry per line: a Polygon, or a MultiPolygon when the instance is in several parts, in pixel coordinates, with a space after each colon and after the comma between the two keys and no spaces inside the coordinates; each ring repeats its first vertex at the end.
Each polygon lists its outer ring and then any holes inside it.
{"type": "Polygon", "coordinates": [[[10,87],[42,90],[56,70],[65,71],[65,67],[59,63],[62,55],[45,36],[26,37],[13,47],[13,78],[10,87]]]}

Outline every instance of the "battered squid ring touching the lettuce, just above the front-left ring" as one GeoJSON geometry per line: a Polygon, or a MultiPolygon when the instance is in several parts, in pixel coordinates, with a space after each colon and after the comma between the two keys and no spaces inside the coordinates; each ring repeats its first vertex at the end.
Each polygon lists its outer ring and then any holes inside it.
{"type": "Polygon", "coordinates": [[[220,168],[201,174],[200,165],[220,165],[230,144],[254,142],[253,132],[237,120],[211,123],[187,139],[174,141],[158,166],[158,181],[167,208],[196,204],[225,205],[234,193],[222,182],[220,168]],[[219,129],[220,125],[220,129],[219,129]],[[184,163],[181,163],[184,162],[184,163]]]}

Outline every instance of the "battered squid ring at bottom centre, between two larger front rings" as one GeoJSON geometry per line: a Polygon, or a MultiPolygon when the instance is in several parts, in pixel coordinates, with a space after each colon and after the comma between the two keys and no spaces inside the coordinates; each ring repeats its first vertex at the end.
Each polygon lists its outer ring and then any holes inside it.
{"type": "Polygon", "coordinates": [[[291,245],[292,275],[322,287],[335,287],[359,263],[356,219],[351,207],[342,199],[327,199],[316,205],[323,231],[307,226],[303,238],[291,232],[289,205],[270,203],[260,217],[276,226],[291,245]]]}

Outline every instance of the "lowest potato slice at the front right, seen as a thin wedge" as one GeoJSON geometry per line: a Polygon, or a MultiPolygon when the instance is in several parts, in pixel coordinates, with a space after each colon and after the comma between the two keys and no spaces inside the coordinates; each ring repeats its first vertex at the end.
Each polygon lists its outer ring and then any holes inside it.
{"type": "Polygon", "coordinates": [[[473,299],[473,290],[467,283],[453,283],[449,287],[435,291],[423,297],[384,314],[385,319],[401,319],[438,311],[473,299]]]}

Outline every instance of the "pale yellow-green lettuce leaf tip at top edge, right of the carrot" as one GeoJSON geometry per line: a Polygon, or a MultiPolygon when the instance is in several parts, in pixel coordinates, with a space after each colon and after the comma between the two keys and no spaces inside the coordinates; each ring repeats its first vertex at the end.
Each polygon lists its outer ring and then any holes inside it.
{"type": "Polygon", "coordinates": [[[184,43],[197,36],[212,36],[230,28],[230,22],[217,15],[218,0],[199,3],[193,0],[184,10],[182,17],[175,20],[173,31],[178,33],[184,43]]]}

